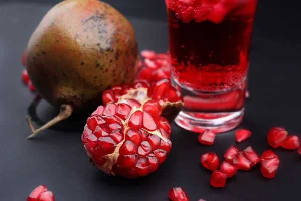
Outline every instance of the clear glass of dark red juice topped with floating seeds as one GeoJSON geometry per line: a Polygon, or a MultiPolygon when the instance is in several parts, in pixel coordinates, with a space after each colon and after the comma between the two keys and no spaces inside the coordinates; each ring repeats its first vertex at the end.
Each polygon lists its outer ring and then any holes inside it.
{"type": "Polygon", "coordinates": [[[244,115],[257,0],[165,0],[174,84],[184,107],[175,122],[225,132],[244,115]]]}

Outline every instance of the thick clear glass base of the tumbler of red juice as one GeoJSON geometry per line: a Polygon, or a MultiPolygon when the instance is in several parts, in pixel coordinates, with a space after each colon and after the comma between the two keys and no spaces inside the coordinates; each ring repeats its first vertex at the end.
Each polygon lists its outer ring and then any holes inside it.
{"type": "Polygon", "coordinates": [[[175,122],[180,127],[202,133],[210,129],[214,133],[221,133],[236,128],[243,119],[244,108],[237,112],[228,113],[192,113],[181,111],[175,122]]]}

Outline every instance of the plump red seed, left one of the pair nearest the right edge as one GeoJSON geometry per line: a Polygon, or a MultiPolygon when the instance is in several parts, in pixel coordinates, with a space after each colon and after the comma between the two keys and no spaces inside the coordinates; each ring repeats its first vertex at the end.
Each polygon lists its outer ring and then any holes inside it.
{"type": "Polygon", "coordinates": [[[274,148],[278,148],[287,137],[287,131],[282,127],[274,127],[267,134],[267,142],[274,148]]]}

